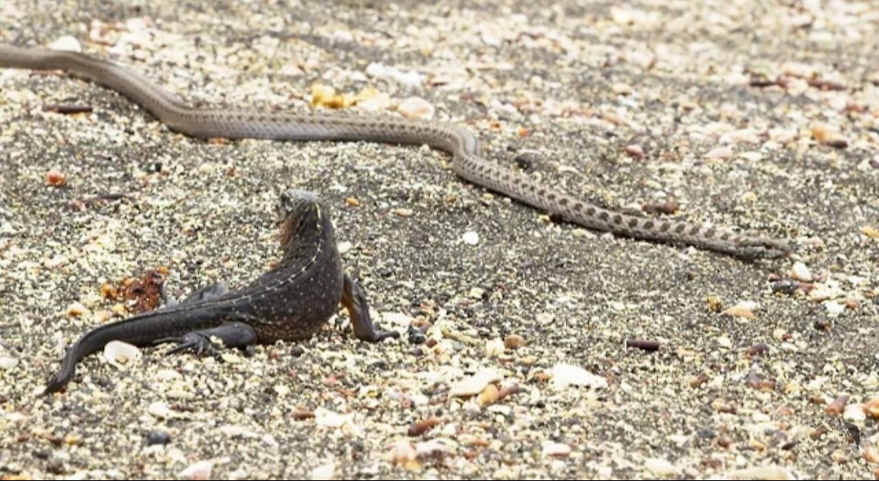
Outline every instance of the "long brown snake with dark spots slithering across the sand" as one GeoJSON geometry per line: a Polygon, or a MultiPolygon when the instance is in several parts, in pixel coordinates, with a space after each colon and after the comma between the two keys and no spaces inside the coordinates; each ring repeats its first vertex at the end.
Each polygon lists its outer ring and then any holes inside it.
{"type": "Polygon", "coordinates": [[[745,259],[778,257],[787,243],[751,237],[720,227],[648,219],[592,205],[512,169],[487,162],[479,140],[461,126],[410,118],[323,112],[265,112],[195,109],[131,70],[74,52],[0,45],[0,67],[64,70],[116,90],[185,135],[229,139],[367,140],[427,144],[452,154],[454,172],[527,205],[599,231],[637,239],[707,248],[745,259]]]}

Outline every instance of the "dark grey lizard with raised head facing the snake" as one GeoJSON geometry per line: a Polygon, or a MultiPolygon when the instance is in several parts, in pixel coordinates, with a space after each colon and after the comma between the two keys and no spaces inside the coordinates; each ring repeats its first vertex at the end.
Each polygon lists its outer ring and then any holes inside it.
{"type": "Polygon", "coordinates": [[[178,347],[171,352],[194,348],[199,353],[213,348],[212,337],[236,348],[296,341],[315,334],[339,303],[358,339],[398,337],[396,331],[376,329],[369,319],[363,291],[342,269],[326,206],[311,192],[287,190],[279,211],[284,254],[275,268],[240,290],[211,284],[182,303],[92,329],[69,348],[46,392],[60,391],[73,377],[76,363],[109,341],[135,346],[174,341],[178,347]]]}

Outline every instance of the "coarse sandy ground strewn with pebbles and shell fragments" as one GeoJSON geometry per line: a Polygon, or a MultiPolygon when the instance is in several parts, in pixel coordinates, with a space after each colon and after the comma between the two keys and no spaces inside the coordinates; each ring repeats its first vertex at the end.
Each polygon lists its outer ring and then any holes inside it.
{"type": "Polygon", "coordinates": [[[92,83],[3,69],[4,479],[879,476],[875,3],[104,4],[5,2],[0,41],[69,35],[190,104],[421,97],[492,162],[795,255],[556,223],[427,148],[193,140],[92,83]],[[355,341],[340,314],[252,356],[92,355],[40,394],[63,348],[130,311],[126,279],[158,269],[180,296],[268,269],[290,186],[332,206],[402,339],[355,341]],[[82,202],[107,194],[127,197],[82,202]]]}

